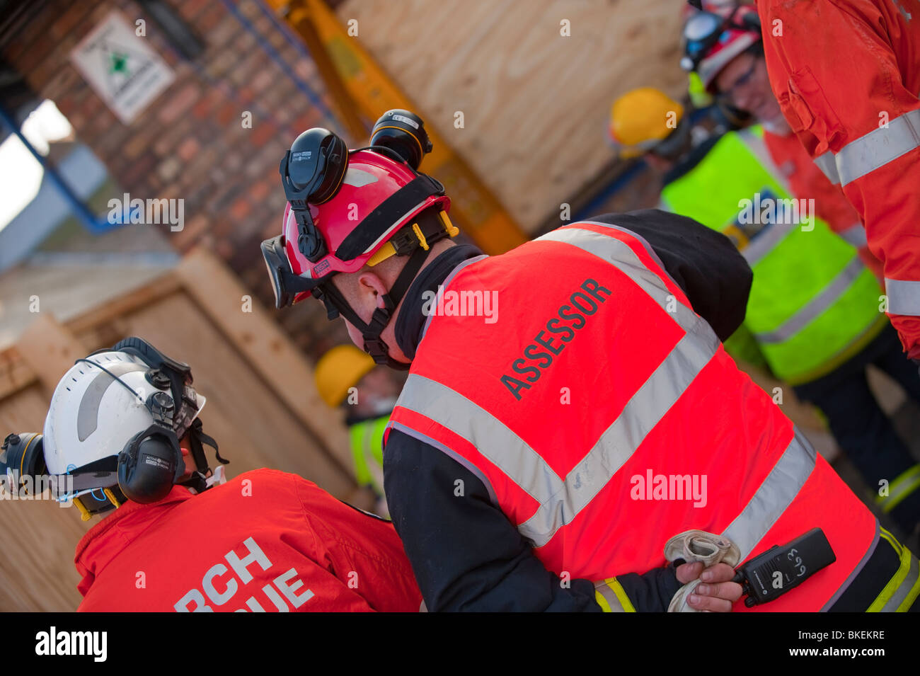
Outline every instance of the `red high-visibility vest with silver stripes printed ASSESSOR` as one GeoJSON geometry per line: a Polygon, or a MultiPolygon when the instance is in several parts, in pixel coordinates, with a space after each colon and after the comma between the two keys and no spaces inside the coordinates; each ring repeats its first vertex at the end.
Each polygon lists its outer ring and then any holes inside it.
{"type": "Polygon", "coordinates": [[[818,611],[877,538],[874,516],[738,370],[650,246],[604,223],[454,270],[390,429],[481,478],[559,576],[660,567],[665,542],[689,529],[728,535],[744,560],[820,527],[836,562],[762,607],[818,611]]]}

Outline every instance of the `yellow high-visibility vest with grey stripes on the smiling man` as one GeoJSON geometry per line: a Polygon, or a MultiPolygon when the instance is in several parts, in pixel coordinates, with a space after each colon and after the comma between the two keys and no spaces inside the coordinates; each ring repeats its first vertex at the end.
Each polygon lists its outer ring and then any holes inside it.
{"type": "Polygon", "coordinates": [[[809,203],[792,199],[759,128],[725,134],[661,194],[671,211],[728,235],[751,265],[744,327],[776,377],[800,384],[832,372],[887,323],[857,249],[813,214],[799,218],[809,203]],[[764,205],[774,217],[761,217],[764,205]]]}

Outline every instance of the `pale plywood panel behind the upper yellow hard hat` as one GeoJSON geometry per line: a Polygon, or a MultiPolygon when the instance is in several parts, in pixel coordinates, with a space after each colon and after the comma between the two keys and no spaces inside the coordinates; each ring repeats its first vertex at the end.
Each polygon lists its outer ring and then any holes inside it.
{"type": "Polygon", "coordinates": [[[610,160],[615,97],[685,90],[680,12],[673,0],[348,0],[337,10],[358,19],[362,45],[528,232],[610,160]]]}

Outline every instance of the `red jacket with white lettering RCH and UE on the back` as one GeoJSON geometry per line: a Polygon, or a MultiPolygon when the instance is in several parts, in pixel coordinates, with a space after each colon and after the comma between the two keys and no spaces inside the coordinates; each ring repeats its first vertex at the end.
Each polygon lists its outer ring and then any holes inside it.
{"type": "Polygon", "coordinates": [[[393,525],[270,469],[127,502],[76,548],[86,612],[417,612],[393,525]]]}

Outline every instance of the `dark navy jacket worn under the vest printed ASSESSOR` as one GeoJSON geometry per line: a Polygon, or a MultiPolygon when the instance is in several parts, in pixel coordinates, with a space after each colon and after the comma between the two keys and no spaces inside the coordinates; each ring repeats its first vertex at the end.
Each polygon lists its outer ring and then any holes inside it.
{"type": "MultiPolygon", "coordinates": [[[[647,210],[605,214],[641,235],[686,293],[697,315],[720,339],[744,319],[752,272],[729,239],[684,216],[647,210]]],[[[397,342],[410,357],[419,347],[425,317],[421,293],[434,291],[457,264],[481,255],[454,246],[423,269],[397,320],[397,342]]],[[[591,580],[559,579],[546,570],[511,521],[489,500],[483,483],[436,448],[390,430],[384,485],[397,533],[430,611],[591,611],[591,580]],[[456,495],[457,480],[463,495],[456,495]]],[[[673,567],[619,575],[637,611],[665,611],[680,589],[673,567]]]]}

